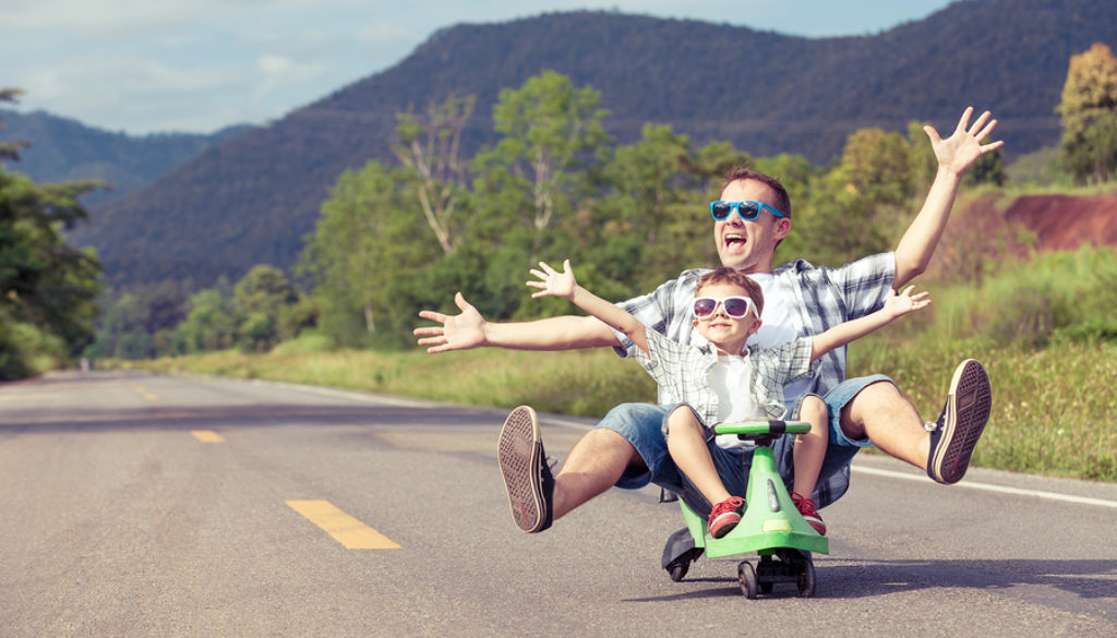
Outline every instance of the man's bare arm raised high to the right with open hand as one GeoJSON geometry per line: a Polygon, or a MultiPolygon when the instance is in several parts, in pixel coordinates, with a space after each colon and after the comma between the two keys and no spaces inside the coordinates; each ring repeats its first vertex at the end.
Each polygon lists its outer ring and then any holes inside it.
{"type": "Polygon", "coordinates": [[[973,106],[967,107],[954,133],[945,140],[938,136],[934,127],[924,126],[935,150],[935,158],[938,159],[938,172],[923,208],[896,245],[895,289],[922,274],[930,264],[930,257],[946,228],[946,220],[951,217],[962,175],[977,158],[1004,144],[1001,141],[982,144],[996,126],[996,120],[990,120],[991,114],[986,111],[970,126],[973,112],[973,106]]]}

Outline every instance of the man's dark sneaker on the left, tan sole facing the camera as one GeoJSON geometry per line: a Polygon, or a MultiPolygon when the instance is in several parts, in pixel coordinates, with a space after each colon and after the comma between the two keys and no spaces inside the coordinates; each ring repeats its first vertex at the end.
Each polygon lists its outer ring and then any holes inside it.
{"type": "Polygon", "coordinates": [[[521,406],[508,415],[500,429],[497,460],[516,525],[529,533],[550,527],[555,480],[546,464],[535,410],[521,406]]]}

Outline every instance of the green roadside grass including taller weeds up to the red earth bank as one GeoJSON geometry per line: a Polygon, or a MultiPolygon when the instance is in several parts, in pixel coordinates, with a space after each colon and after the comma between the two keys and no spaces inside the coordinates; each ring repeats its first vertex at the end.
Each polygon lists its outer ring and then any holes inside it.
{"type": "MultiPolygon", "coordinates": [[[[960,361],[982,361],[993,412],[974,464],[1117,482],[1117,251],[1083,248],[1012,263],[976,284],[920,284],[930,310],[850,347],[849,375],[888,374],[926,420],[938,416],[960,361]]],[[[655,400],[634,361],[610,349],[445,354],[328,350],[308,335],[269,354],[220,352],[136,365],[351,388],[601,417],[655,400]]]]}

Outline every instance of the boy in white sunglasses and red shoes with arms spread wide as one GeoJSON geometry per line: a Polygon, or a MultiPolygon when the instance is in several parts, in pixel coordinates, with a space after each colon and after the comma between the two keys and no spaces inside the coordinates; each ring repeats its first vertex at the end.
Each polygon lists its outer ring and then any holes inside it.
{"type": "MultiPolygon", "coordinates": [[[[810,375],[819,356],[930,304],[927,293],[913,296],[914,286],[909,286],[899,295],[892,292],[884,307],[872,314],[811,337],[752,352],[745,342],[761,326],[763,294],[747,275],[722,267],[698,280],[691,306],[694,326],[708,345],[691,346],[647,330],[624,310],[577,285],[570,259],[563,263],[562,273],[542,261],[540,267],[542,270],[531,272],[540,280],[527,282],[540,289],[532,297],[564,297],[628,335],[638,347],[637,360],[659,384],[661,402],[665,402],[665,387],[668,389],[666,396],[671,401],[663,406],[668,451],[685,482],[708,503],[716,504],[708,520],[715,539],[737,525],[745,502],[729,494],[720,474],[741,465],[739,451],[723,451],[741,447],[741,441],[735,437],[715,440],[713,426],[760,415],[783,417],[784,383],[810,375]]],[[[811,431],[795,441],[792,499],[808,523],[825,534],[825,524],[809,498],[827,450],[825,403],[809,394],[800,402],[798,412],[799,419],[811,423],[811,431]]]]}

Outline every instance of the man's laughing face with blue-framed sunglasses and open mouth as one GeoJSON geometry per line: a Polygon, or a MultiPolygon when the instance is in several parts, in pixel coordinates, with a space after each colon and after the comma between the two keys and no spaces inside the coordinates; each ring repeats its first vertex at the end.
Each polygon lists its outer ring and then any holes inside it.
{"type": "MultiPolygon", "coordinates": [[[[775,193],[764,182],[737,180],[722,191],[724,201],[762,201],[775,206],[775,193]]],[[[745,273],[770,273],[775,245],[791,230],[791,220],[777,218],[766,210],[753,221],[745,221],[736,211],[714,222],[714,240],[722,265],[745,273]]]]}

